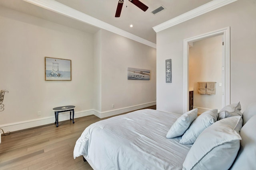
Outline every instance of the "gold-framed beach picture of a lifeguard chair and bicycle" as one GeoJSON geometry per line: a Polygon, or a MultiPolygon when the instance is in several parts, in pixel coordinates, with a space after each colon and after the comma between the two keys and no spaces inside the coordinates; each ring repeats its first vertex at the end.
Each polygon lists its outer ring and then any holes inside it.
{"type": "Polygon", "coordinates": [[[71,60],[44,57],[46,81],[71,81],[71,60]]]}

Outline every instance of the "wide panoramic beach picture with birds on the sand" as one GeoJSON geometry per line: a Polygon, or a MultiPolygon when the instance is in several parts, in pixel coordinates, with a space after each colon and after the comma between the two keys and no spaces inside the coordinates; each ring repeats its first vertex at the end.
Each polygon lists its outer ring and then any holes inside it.
{"type": "Polygon", "coordinates": [[[150,70],[128,68],[127,78],[128,80],[150,80],[150,70]]]}

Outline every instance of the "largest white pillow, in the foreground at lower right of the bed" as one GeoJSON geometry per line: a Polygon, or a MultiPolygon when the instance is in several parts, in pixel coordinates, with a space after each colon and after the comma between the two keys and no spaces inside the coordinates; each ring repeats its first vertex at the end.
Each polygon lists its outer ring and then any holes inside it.
{"type": "Polygon", "coordinates": [[[242,123],[241,116],[233,116],[205,129],[188,151],[182,170],[228,170],[240,147],[242,123]]]}

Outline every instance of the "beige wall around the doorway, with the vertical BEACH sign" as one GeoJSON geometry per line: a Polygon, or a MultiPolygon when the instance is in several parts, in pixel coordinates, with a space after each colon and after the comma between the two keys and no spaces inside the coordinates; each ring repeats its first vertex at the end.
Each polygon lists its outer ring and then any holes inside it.
{"type": "Polygon", "coordinates": [[[230,102],[242,111],[255,101],[256,2],[238,0],[157,33],[157,109],[183,113],[183,40],[230,26],[230,102]],[[165,60],[172,59],[172,83],[165,83],[165,60]],[[167,110],[165,109],[167,107],[167,110]]]}

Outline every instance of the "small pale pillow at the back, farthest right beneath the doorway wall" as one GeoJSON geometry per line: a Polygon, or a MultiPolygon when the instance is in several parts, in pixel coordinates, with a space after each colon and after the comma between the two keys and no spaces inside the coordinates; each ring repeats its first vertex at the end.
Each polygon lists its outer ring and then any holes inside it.
{"type": "Polygon", "coordinates": [[[242,116],[240,102],[223,107],[218,113],[218,120],[231,116],[242,116]]]}

